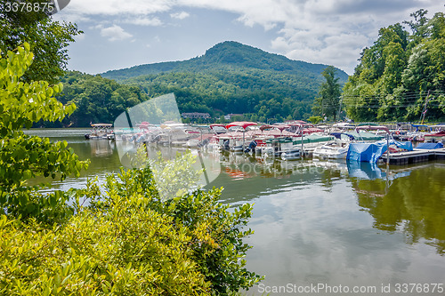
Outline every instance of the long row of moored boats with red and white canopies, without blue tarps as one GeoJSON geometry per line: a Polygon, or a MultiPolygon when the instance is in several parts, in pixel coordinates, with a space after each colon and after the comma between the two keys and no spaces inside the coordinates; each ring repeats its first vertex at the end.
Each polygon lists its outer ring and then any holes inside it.
{"type": "MultiPolygon", "coordinates": [[[[100,132],[92,130],[85,138],[227,150],[284,160],[300,158],[303,153],[314,157],[345,158],[352,143],[373,143],[379,140],[441,143],[445,140],[445,125],[399,124],[390,129],[376,124],[315,126],[303,121],[263,125],[254,122],[210,125],[142,122],[134,128],[115,131],[111,131],[109,124],[93,125],[93,129],[97,128],[100,132]]],[[[390,150],[397,151],[402,149],[400,147],[392,145],[390,150]]]]}

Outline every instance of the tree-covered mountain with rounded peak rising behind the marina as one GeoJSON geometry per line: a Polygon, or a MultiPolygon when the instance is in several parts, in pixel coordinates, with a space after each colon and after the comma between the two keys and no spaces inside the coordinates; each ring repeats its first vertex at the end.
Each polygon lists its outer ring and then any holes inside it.
{"type": "MultiPolygon", "coordinates": [[[[305,119],[325,82],[327,65],[264,52],[233,41],[216,44],[202,56],[112,70],[101,74],[137,86],[149,97],[174,92],[181,112],[211,116],[249,114],[244,119],[305,119]]],[[[339,82],[347,74],[336,69],[339,82]]]]}

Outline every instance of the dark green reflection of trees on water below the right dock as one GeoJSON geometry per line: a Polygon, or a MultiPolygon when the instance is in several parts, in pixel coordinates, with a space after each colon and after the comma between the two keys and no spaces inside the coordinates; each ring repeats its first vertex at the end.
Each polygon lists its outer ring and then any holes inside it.
{"type": "Polygon", "coordinates": [[[375,228],[399,231],[408,244],[425,241],[444,254],[445,165],[426,164],[392,175],[401,173],[403,178],[392,180],[389,188],[384,180],[351,179],[359,205],[374,218],[375,228]]]}

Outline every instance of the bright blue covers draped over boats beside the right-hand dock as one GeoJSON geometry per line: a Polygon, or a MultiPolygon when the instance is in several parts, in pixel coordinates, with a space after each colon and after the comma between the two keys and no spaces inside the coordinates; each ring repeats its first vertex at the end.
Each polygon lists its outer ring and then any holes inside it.
{"type": "MultiPolygon", "coordinates": [[[[411,142],[399,142],[397,140],[390,140],[390,145],[395,145],[399,148],[412,151],[413,144],[411,142]]],[[[376,163],[378,158],[388,149],[386,140],[379,140],[375,143],[351,143],[349,145],[346,159],[355,160],[358,162],[376,163]]]]}

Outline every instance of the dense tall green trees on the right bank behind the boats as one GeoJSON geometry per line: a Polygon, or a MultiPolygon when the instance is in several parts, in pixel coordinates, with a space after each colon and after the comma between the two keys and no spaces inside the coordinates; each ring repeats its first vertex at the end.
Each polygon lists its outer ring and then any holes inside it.
{"type": "Polygon", "coordinates": [[[445,16],[425,10],[381,28],[361,52],[344,86],[343,104],[357,121],[445,120],[445,16]]]}

